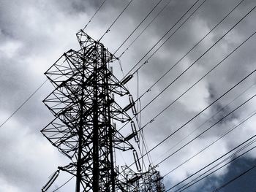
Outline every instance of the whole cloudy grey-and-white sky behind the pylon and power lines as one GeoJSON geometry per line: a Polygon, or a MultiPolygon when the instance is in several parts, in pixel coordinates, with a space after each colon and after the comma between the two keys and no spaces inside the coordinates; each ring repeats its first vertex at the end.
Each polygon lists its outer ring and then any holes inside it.
{"type": "MultiPolygon", "coordinates": [[[[118,16],[119,12],[126,6],[127,0],[107,0],[86,28],[92,38],[99,39],[105,33],[108,26],[118,16]]],[[[110,28],[108,34],[102,39],[105,47],[114,53],[124,42],[124,39],[134,30],[148,12],[157,4],[157,0],[138,0],[126,9],[123,15],[110,28]]],[[[154,18],[169,0],[162,0],[159,6],[135,31],[135,34],[116,53],[119,56],[135,39],[140,31],[154,18]]],[[[140,61],[148,50],[173,26],[181,15],[192,6],[195,1],[184,0],[170,1],[159,17],[151,23],[151,26],[129,47],[121,56],[121,64],[124,74],[129,72],[132,66],[140,61]]],[[[195,7],[203,1],[199,1],[195,7]]],[[[144,93],[162,74],[193,47],[204,35],[208,33],[222,18],[230,12],[240,1],[236,0],[207,0],[200,9],[195,12],[184,26],[173,34],[164,46],[150,58],[148,64],[138,71],[128,83],[132,95],[144,93]],[[138,83],[139,82],[139,83],[138,83]],[[139,93],[138,86],[139,85],[139,93]]],[[[75,34],[89,21],[95,10],[102,1],[89,0],[0,0],[0,123],[4,123],[12,112],[17,110],[33,93],[39,85],[45,81],[44,72],[70,48],[78,50],[78,42],[75,34]]],[[[141,105],[146,106],[148,101],[157,96],[170,82],[178,77],[187,67],[192,64],[208,47],[217,42],[238,20],[240,20],[250,9],[256,6],[255,0],[244,0],[230,16],[211,32],[211,34],[192,50],[187,57],[182,59],[161,81],[151,88],[141,99],[141,105]]],[[[195,9],[195,8],[194,8],[195,9]]],[[[193,10],[194,10],[193,9],[193,10]]],[[[170,102],[174,101],[181,93],[187,90],[193,83],[206,74],[213,66],[222,61],[241,42],[256,31],[256,10],[253,10],[236,28],[230,31],[216,46],[195,63],[184,75],[173,85],[157,97],[141,113],[141,125],[145,125],[164,109],[170,102]]],[[[181,20],[182,22],[183,20],[181,20]]],[[[179,24],[178,24],[179,26],[179,24]]],[[[173,28],[173,31],[178,27],[173,28]]],[[[173,31],[170,31],[172,34],[173,31]]],[[[168,36],[167,36],[168,37],[168,36]]],[[[255,70],[256,66],[256,36],[249,39],[235,53],[230,55],[213,72],[208,74],[194,88],[178,99],[154,122],[144,128],[144,134],[148,149],[157,145],[167,135],[182,126],[190,118],[203,110],[208,104],[221,96],[225,91],[236,85],[247,74],[255,70]]],[[[166,38],[165,38],[166,39],[166,38]]],[[[165,41],[163,39],[163,41],[165,41]]],[[[163,42],[162,41],[162,42],[163,42]]],[[[150,55],[150,54],[149,54],[150,55]]],[[[143,60],[145,61],[145,59],[143,60]]],[[[143,64],[143,61],[140,64],[143,64]]],[[[139,64],[139,65],[140,65],[139,64]]],[[[121,69],[116,63],[113,73],[121,79],[121,69]]],[[[255,74],[252,74],[244,82],[239,84],[230,93],[217,101],[212,107],[199,115],[195,120],[178,131],[173,137],[167,139],[156,150],[151,152],[154,164],[158,164],[167,155],[184,145],[189,139],[196,137],[203,130],[216,123],[227,113],[236,109],[240,104],[255,95],[255,74]],[[228,105],[227,105],[228,104],[228,105]],[[227,107],[225,107],[227,105],[227,107]],[[222,107],[224,110],[216,114],[222,107]],[[211,120],[208,120],[211,118],[211,120]],[[204,123],[208,120],[206,123],[204,123]],[[202,123],[203,126],[200,126],[202,123]],[[200,126],[200,128],[198,128],[200,126]],[[198,128],[196,131],[194,131],[198,128]],[[193,131],[193,133],[192,133],[193,131]],[[185,140],[184,137],[187,137],[185,140]],[[176,146],[176,143],[180,142],[176,146]],[[175,147],[173,147],[175,146],[175,147]],[[172,148],[173,147],[173,148],[172,148]],[[171,149],[170,149],[171,148],[171,149]]],[[[0,128],[0,191],[27,192],[40,191],[42,185],[48,181],[50,174],[56,171],[58,166],[69,163],[68,159],[52,147],[50,143],[39,132],[51,120],[53,115],[42,103],[48,94],[53,91],[53,86],[47,82],[39,91],[0,128]]],[[[122,104],[123,106],[125,104],[122,104]]],[[[192,155],[213,142],[221,134],[238,125],[244,118],[255,112],[256,100],[251,99],[240,107],[232,115],[229,115],[221,123],[211,128],[194,142],[184,147],[175,155],[172,155],[157,169],[162,175],[174,169],[186,161],[192,155]]],[[[244,142],[256,134],[255,116],[246,120],[241,126],[227,134],[207,150],[192,158],[183,166],[167,174],[164,183],[167,188],[175,185],[198,169],[211,163],[221,155],[244,142]]],[[[128,133],[129,126],[125,127],[124,133],[128,133]]],[[[252,144],[250,147],[254,147],[252,144]]],[[[246,150],[249,148],[246,148],[246,150]]],[[[244,152],[244,151],[243,151],[244,152]]],[[[127,163],[132,162],[132,154],[122,155],[117,153],[118,158],[125,159],[127,163]]],[[[223,183],[240,174],[256,163],[256,152],[252,150],[246,153],[239,161],[225,166],[198,183],[187,191],[213,191],[223,183]]],[[[120,160],[121,161],[121,160],[120,160]]],[[[256,169],[241,177],[236,183],[231,183],[222,191],[256,191],[255,184],[256,169]]],[[[53,185],[57,188],[69,178],[69,175],[61,177],[53,185]]],[[[74,191],[73,181],[59,191],[74,191]]]]}

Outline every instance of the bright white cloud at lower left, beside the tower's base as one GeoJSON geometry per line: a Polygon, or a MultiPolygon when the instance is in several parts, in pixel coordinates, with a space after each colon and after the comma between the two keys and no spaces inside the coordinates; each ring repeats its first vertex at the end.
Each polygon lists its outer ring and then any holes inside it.
{"type": "Polygon", "coordinates": [[[67,163],[40,133],[31,129],[15,118],[1,129],[1,177],[6,186],[20,191],[39,189],[46,175],[67,163]]]}

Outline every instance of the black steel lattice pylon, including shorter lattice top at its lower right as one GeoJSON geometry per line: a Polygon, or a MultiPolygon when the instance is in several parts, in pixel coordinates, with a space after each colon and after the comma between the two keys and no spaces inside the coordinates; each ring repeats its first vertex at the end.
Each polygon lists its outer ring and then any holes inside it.
{"type": "Polygon", "coordinates": [[[42,134],[71,163],[59,167],[42,191],[48,191],[60,170],[76,177],[76,192],[143,191],[151,188],[149,185],[163,189],[159,172],[152,167],[144,173],[139,168],[139,173],[131,169],[119,172],[115,149],[133,150],[140,166],[138,154],[129,143],[129,139],[138,138],[138,133],[133,131],[123,137],[114,123],[131,120],[126,111],[135,109],[132,96],[123,85],[130,77],[119,82],[109,67],[117,58],[83,30],[78,31],[77,37],[80,50],[67,51],[45,72],[55,90],[43,102],[55,119],[42,129],[42,134]],[[117,95],[129,95],[126,109],[116,103],[117,95]]]}

